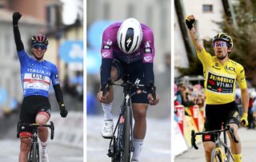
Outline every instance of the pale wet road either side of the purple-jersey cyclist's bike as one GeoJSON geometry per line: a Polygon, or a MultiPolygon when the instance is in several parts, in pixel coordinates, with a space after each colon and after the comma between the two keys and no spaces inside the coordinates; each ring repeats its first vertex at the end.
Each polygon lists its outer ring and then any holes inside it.
{"type": "MultiPolygon", "coordinates": [[[[87,116],[86,161],[106,162],[109,141],[101,136],[102,116],[87,116]]],[[[117,119],[114,119],[117,121],[117,119]]],[[[170,162],[170,120],[147,119],[146,138],[144,140],[141,161],[170,162]]]]}

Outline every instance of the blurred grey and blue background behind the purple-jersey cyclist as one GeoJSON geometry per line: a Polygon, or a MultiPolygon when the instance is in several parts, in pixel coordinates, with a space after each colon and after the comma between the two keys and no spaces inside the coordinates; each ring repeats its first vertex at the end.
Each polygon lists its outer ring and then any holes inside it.
{"type": "MultiPolygon", "coordinates": [[[[154,32],[154,77],[160,103],[149,109],[150,117],[170,117],[170,0],[88,0],[86,50],[86,107],[87,115],[101,115],[102,107],[96,94],[99,90],[102,32],[114,22],[136,18],[154,32]]],[[[118,114],[122,89],[114,93],[114,114],[118,114]]]]}

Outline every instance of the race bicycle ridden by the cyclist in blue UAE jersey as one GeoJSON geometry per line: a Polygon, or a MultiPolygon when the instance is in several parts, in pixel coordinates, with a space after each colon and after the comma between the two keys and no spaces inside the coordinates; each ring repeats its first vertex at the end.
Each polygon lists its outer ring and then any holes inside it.
{"type": "Polygon", "coordinates": [[[30,127],[32,128],[32,140],[30,144],[30,152],[28,157],[28,162],[39,162],[40,156],[39,156],[39,144],[38,144],[38,127],[46,127],[50,128],[50,140],[54,139],[54,122],[50,121],[50,124],[23,124],[20,121],[18,121],[17,125],[17,138],[19,138],[19,128],[22,128],[22,126],[30,127]]]}

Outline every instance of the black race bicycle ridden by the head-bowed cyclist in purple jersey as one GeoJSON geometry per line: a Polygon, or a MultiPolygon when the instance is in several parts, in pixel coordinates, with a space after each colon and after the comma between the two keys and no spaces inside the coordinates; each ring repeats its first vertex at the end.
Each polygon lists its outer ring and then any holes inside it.
{"type": "Polygon", "coordinates": [[[117,124],[115,125],[113,136],[110,138],[110,144],[107,156],[111,157],[111,162],[130,162],[130,153],[134,152],[133,146],[133,111],[131,107],[131,97],[135,94],[131,90],[133,88],[147,87],[151,89],[152,95],[155,97],[155,86],[150,85],[138,85],[126,81],[125,83],[110,83],[105,86],[102,92],[102,96],[105,97],[106,91],[109,89],[110,85],[117,85],[123,88],[123,99],[120,110],[120,115],[118,117],[117,124]]]}

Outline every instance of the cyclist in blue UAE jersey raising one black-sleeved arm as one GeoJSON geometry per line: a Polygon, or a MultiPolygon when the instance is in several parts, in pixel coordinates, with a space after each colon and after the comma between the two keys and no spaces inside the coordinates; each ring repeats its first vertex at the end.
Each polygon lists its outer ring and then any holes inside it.
{"type": "MultiPolygon", "coordinates": [[[[48,38],[43,34],[36,34],[30,40],[32,57],[24,50],[21,35],[18,30],[18,21],[22,14],[15,12],[13,14],[14,41],[16,44],[18,59],[21,65],[23,101],[19,117],[21,123],[46,124],[50,119],[50,102],[48,93],[50,82],[54,87],[54,92],[60,108],[61,117],[67,116],[67,110],[64,105],[62,90],[58,80],[58,69],[56,65],[43,59],[46,53],[48,38]]],[[[30,151],[31,128],[22,127],[19,132],[20,152],[19,162],[28,160],[30,151]]],[[[38,136],[41,140],[41,160],[49,162],[46,141],[48,139],[48,129],[38,128],[38,136]]]]}

